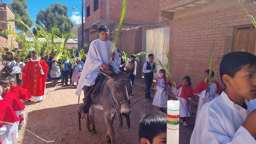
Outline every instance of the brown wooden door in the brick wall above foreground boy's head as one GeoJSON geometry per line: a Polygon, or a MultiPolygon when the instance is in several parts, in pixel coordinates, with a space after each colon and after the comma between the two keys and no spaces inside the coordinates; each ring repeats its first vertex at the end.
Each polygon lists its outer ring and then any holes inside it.
{"type": "Polygon", "coordinates": [[[237,31],[235,51],[250,52],[256,55],[256,30],[237,31]]]}

